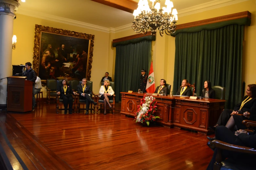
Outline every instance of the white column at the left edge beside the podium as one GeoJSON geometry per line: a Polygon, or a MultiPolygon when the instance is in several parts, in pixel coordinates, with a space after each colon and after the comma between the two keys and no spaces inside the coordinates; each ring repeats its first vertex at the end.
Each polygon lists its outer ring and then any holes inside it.
{"type": "MultiPolygon", "coordinates": [[[[0,78],[12,75],[12,31],[14,11],[20,4],[15,0],[0,0],[0,78]],[[10,7],[10,13],[5,7],[10,7]]],[[[6,105],[7,79],[0,80],[0,106],[6,105]]]]}

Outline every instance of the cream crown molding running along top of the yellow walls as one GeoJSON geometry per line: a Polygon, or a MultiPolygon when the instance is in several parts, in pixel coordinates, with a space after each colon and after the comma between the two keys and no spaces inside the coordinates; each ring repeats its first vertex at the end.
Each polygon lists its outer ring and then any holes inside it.
{"type": "MultiPolygon", "coordinates": [[[[204,3],[204,4],[196,5],[196,6],[193,6],[193,7],[181,9],[181,10],[178,11],[179,12],[178,15],[179,15],[179,17],[182,17],[182,16],[186,16],[186,15],[191,15],[191,14],[207,11],[207,10],[210,10],[210,9],[225,7],[225,6],[229,6],[229,5],[232,5],[232,4],[237,4],[237,3],[240,3],[240,2],[244,2],[244,1],[248,1],[248,0],[214,0],[214,1],[211,1],[209,3],[204,3]]],[[[131,26],[132,26],[132,22],[131,22],[129,24],[126,24],[126,25],[123,25],[123,26],[120,26],[120,27],[107,28],[107,27],[102,27],[102,26],[99,26],[99,25],[94,25],[94,24],[81,22],[81,21],[76,21],[76,20],[70,20],[70,19],[67,19],[67,18],[58,17],[58,16],[54,16],[54,15],[49,15],[49,14],[45,14],[45,13],[39,13],[39,12],[35,12],[35,11],[28,11],[28,10],[19,9],[16,13],[17,14],[22,14],[22,15],[27,15],[27,16],[30,16],[30,17],[40,18],[40,19],[44,19],[44,20],[55,21],[55,22],[60,22],[60,23],[64,23],[64,24],[79,26],[79,27],[82,27],[82,28],[88,28],[88,29],[92,29],[92,30],[96,30],[96,31],[105,32],[105,33],[118,33],[118,32],[122,32],[122,31],[126,31],[126,30],[131,29],[131,26]]]]}

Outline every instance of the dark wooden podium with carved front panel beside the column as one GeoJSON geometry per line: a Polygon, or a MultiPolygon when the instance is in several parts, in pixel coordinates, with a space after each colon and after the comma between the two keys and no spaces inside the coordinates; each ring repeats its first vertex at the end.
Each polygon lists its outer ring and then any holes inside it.
{"type": "Polygon", "coordinates": [[[33,83],[27,77],[7,78],[7,111],[27,112],[32,110],[33,83]]]}

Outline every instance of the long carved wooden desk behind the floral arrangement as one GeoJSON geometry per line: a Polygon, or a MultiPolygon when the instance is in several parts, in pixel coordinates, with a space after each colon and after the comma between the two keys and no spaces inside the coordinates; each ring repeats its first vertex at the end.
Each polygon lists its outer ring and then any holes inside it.
{"type": "MultiPolygon", "coordinates": [[[[122,97],[121,115],[134,117],[137,105],[144,94],[151,96],[152,93],[127,93],[120,92],[122,97]]],[[[225,100],[197,99],[179,96],[154,96],[157,101],[158,114],[161,119],[157,120],[163,126],[186,128],[198,133],[207,134],[208,127],[213,126],[222,110],[225,100]]]]}

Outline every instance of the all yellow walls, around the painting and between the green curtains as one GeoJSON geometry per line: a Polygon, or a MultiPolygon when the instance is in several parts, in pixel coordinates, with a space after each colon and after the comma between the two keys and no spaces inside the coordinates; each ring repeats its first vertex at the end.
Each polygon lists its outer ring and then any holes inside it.
{"type": "MultiPolygon", "coordinates": [[[[252,84],[256,81],[254,72],[254,64],[256,63],[256,57],[254,55],[256,45],[255,0],[244,1],[226,7],[220,7],[218,9],[212,9],[201,13],[179,17],[178,24],[209,19],[242,11],[249,11],[252,13],[251,26],[246,27],[246,42],[243,58],[243,80],[246,82],[246,84],[252,84]]],[[[136,34],[132,29],[118,33],[104,33],[78,26],[18,14],[17,19],[14,21],[13,29],[13,35],[17,35],[18,42],[16,50],[13,50],[12,53],[12,64],[25,64],[27,61],[32,63],[35,24],[95,35],[91,74],[91,80],[94,82],[93,89],[95,93],[98,93],[100,79],[104,76],[106,71],[109,72],[110,77],[114,78],[115,48],[112,47],[112,40],[136,34]]],[[[161,37],[159,35],[159,31],[157,31],[156,41],[152,42],[152,49],[156,85],[158,85],[161,78],[164,78],[168,84],[172,85],[173,88],[175,37],[167,35],[161,37]]]]}

